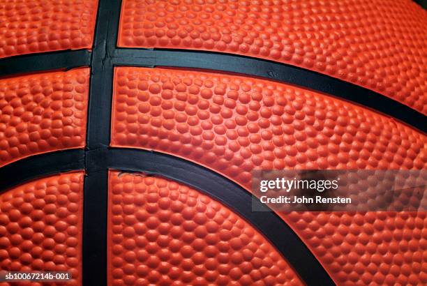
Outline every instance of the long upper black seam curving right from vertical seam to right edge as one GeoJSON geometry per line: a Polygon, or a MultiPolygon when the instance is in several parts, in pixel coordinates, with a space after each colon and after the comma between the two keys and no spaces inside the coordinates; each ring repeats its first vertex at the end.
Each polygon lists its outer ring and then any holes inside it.
{"type": "Polygon", "coordinates": [[[398,121],[427,133],[426,116],[403,103],[357,84],[285,63],[220,52],[127,48],[114,50],[112,61],[114,66],[151,68],[164,66],[219,70],[302,86],[312,91],[320,91],[329,96],[368,107],[386,116],[391,116],[391,119],[398,119],[398,121]]]}

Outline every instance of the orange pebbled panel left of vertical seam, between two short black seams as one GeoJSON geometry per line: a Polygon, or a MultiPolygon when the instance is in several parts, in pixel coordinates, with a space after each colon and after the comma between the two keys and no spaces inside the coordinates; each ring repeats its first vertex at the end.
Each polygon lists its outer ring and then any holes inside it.
{"type": "Polygon", "coordinates": [[[0,167],[85,145],[89,68],[0,80],[0,167]]]}

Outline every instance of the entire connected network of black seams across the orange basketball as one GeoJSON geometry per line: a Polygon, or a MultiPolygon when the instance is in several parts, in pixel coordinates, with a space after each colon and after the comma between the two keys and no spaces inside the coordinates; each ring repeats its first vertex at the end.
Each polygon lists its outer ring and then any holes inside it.
{"type": "Polygon", "coordinates": [[[108,149],[114,66],[167,66],[220,70],[297,86],[337,96],[403,121],[426,133],[426,117],[410,107],[361,86],[304,68],[263,59],[190,50],[117,48],[120,0],[100,0],[93,52],[47,52],[0,59],[0,76],[91,66],[87,150],[31,156],[0,168],[1,188],[46,174],[82,170],[84,223],[83,285],[107,285],[107,168],[147,172],[181,181],[227,204],[267,236],[309,285],[334,285],[298,236],[275,213],[251,211],[246,190],[220,174],[172,156],[133,149],[108,149]],[[24,170],[24,172],[22,172],[24,170]]]}

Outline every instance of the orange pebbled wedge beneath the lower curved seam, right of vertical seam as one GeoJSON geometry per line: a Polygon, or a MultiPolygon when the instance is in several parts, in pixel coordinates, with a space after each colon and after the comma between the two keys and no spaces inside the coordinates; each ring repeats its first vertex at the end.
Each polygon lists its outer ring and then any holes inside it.
{"type": "Polygon", "coordinates": [[[108,285],[302,285],[267,239],[197,190],[110,172],[108,285]]]}

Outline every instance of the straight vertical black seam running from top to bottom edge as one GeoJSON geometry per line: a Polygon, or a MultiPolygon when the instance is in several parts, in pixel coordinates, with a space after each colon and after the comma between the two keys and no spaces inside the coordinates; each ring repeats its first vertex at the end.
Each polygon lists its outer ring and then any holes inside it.
{"type": "MultiPolygon", "coordinates": [[[[85,151],[82,284],[107,285],[108,172],[93,170],[87,154],[110,144],[113,65],[121,0],[100,0],[91,54],[87,148],[85,151]]],[[[96,156],[93,160],[101,160],[96,156]]]]}

